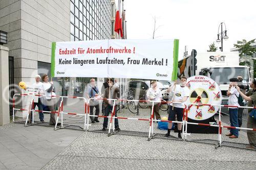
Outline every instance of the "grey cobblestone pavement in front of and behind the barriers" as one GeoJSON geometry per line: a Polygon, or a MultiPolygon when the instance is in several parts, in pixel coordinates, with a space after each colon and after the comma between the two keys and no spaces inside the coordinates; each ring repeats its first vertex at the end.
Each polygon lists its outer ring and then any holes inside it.
{"type": "MultiPolygon", "coordinates": [[[[118,113],[122,117],[148,118],[150,109],[140,109],[140,115],[127,110],[118,113]]],[[[167,116],[167,112],[160,112],[167,116]]],[[[70,121],[68,117],[66,121],[70,121]]],[[[81,120],[83,117],[80,118],[81,120]]],[[[47,163],[42,169],[255,169],[256,152],[254,150],[221,147],[215,145],[154,138],[147,141],[145,136],[120,135],[123,131],[140,131],[148,134],[147,121],[119,119],[120,132],[108,137],[105,133],[97,133],[102,129],[103,120],[92,124],[90,131],[84,132],[65,150],[47,163]],[[119,134],[118,134],[119,133],[119,134]]],[[[160,136],[166,131],[157,129],[160,136]]],[[[228,133],[223,129],[223,134],[228,133]]],[[[159,136],[158,135],[158,136],[159,136]]],[[[177,133],[171,132],[177,136],[177,133]]],[[[217,134],[191,134],[188,139],[218,140],[217,134]]],[[[240,132],[237,139],[229,139],[222,135],[222,140],[234,143],[248,143],[245,132],[240,132]]]]}

